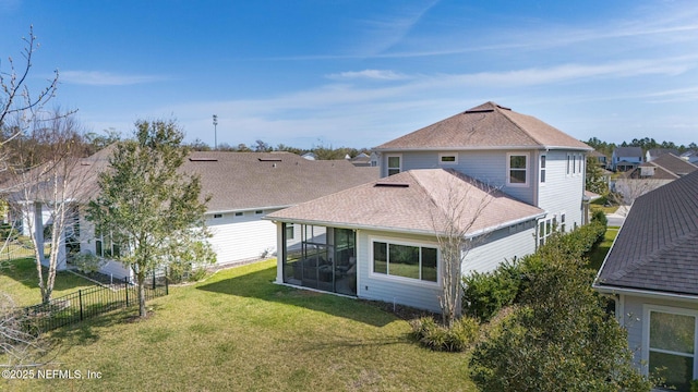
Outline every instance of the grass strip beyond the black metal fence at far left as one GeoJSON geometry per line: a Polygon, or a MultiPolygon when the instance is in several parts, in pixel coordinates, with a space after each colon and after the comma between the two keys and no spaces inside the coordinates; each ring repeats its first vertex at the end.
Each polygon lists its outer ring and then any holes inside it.
{"type": "MultiPolygon", "coordinates": [[[[44,274],[46,278],[46,272],[44,274]]],[[[56,274],[52,297],[92,287],[95,284],[74,273],[61,271],[56,274]]],[[[41,302],[34,258],[0,261],[0,292],[12,295],[16,306],[29,306],[41,302]]]]}

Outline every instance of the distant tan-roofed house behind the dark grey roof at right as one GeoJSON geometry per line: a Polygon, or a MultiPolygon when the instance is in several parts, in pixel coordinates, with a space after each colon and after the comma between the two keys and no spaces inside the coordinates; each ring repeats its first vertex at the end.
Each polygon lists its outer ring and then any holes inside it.
{"type": "Polygon", "coordinates": [[[696,170],[698,170],[698,167],[695,164],[673,154],[665,154],[623,173],[623,175],[615,181],[612,189],[621,194],[624,204],[629,206],[639,196],[657,189],[662,185],[666,185],[688,173],[693,173],[696,170]]]}

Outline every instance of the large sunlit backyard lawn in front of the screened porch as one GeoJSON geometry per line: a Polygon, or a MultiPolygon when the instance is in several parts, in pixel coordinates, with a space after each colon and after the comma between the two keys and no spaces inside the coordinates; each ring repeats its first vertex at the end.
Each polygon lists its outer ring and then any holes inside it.
{"type": "Polygon", "coordinates": [[[13,391],[473,391],[467,354],[420,347],[373,304],[273,284],[274,260],[170,287],[146,320],[118,311],[51,334],[51,368],[100,379],[7,380],[13,391]]]}

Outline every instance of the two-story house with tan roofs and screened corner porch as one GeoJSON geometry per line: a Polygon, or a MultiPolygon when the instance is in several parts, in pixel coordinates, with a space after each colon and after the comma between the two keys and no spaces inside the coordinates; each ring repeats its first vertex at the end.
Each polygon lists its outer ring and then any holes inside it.
{"type": "Polygon", "coordinates": [[[469,241],[464,271],[533,253],[582,224],[589,151],[494,102],[387,142],[374,149],[381,180],[265,218],[277,282],[438,311],[444,222],[469,241]]]}

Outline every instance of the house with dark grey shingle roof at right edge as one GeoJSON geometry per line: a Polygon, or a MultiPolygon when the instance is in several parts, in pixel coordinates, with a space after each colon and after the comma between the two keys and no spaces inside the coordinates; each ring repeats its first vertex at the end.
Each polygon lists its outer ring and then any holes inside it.
{"type": "Polygon", "coordinates": [[[593,287],[615,299],[635,364],[678,391],[698,379],[698,171],[635,200],[593,287]]]}

